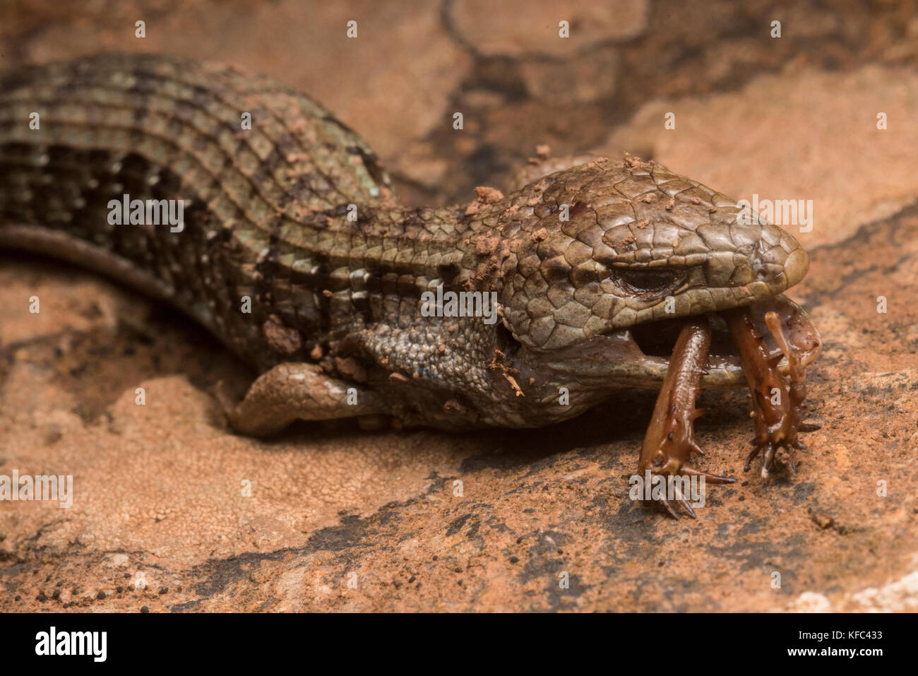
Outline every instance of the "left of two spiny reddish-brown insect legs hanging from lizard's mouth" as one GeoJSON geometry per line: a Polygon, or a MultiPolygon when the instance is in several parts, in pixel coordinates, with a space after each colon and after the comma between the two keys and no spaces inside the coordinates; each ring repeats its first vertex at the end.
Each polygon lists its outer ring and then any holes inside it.
{"type": "MultiPolygon", "coordinates": [[[[663,387],[656,398],[653,419],[644,436],[644,445],[641,447],[641,458],[638,462],[642,477],[650,470],[652,475],[660,475],[665,479],[681,475],[704,477],[711,483],[735,481],[689,465],[693,451],[704,455],[695,443],[693,425],[695,419],[703,412],[695,408],[695,398],[700,392],[699,383],[710,347],[711,329],[707,319],[696,317],[687,321],[679,332],[663,387]]],[[[660,501],[670,514],[678,518],[666,494],[660,501]]],[[[686,496],[677,495],[673,501],[683,512],[696,518],[686,496]]]]}

